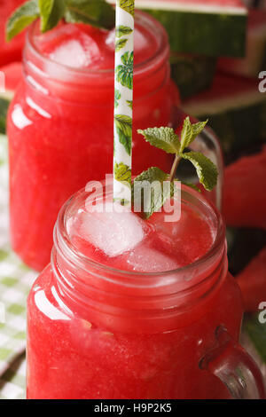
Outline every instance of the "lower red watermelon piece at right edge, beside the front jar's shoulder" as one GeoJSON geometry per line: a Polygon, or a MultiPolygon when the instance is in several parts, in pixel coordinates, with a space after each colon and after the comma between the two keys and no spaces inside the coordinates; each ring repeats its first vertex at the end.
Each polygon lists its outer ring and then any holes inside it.
{"type": "Polygon", "coordinates": [[[236,278],[245,311],[258,311],[259,304],[266,301],[266,247],[236,278]]]}

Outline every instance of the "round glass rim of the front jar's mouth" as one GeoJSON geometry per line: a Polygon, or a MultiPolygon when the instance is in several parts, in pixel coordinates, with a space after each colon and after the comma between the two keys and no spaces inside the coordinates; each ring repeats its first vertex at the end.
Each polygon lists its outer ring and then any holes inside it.
{"type": "MultiPolygon", "coordinates": [[[[191,187],[187,185],[182,185],[181,193],[183,193],[183,195],[188,194],[189,196],[192,197],[194,201],[200,201],[201,206],[208,210],[208,212],[211,214],[216,224],[215,239],[213,241],[213,244],[203,256],[200,256],[200,258],[194,261],[192,264],[187,264],[180,268],[176,268],[174,270],[158,271],[158,272],[125,271],[125,270],[110,267],[106,264],[100,264],[97,261],[91,259],[90,257],[82,254],[73,245],[66,231],[67,211],[71,209],[72,203],[76,199],[82,198],[82,195],[84,195],[85,193],[86,193],[85,188],[83,188],[77,193],[74,193],[74,195],[70,197],[70,199],[66,201],[63,207],[60,209],[58,220],[54,228],[54,242],[56,243],[56,241],[59,240],[59,236],[60,236],[62,239],[60,239],[60,241],[57,243],[56,246],[60,246],[63,252],[67,254],[67,256],[71,256],[72,259],[74,259],[74,264],[78,264],[79,267],[81,267],[82,269],[86,269],[86,271],[88,271],[87,267],[92,267],[92,268],[97,269],[98,271],[102,271],[106,273],[113,273],[115,277],[127,276],[130,278],[135,277],[139,279],[145,278],[145,279],[151,279],[151,280],[153,280],[155,277],[157,278],[167,277],[173,274],[175,275],[177,274],[184,275],[184,273],[190,274],[192,270],[199,269],[200,267],[204,267],[204,265],[207,264],[210,259],[212,258],[215,259],[215,256],[217,256],[217,254],[224,247],[225,224],[223,222],[223,217],[221,213],[219,212],[219,210],[215,207],[215,205],[211,201],[207,201],[207,199],[203,195],[200,195],[197,191],[193,190],[191,187]]],[[[88,193],[86,193],[86,195],[88,195],[88,193]]]]}

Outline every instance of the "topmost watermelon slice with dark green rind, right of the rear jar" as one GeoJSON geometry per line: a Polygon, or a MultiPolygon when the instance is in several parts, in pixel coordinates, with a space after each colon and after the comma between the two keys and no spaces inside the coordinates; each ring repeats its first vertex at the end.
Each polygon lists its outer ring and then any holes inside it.
{"type": "Polygon", "coordinates": [[[247,11],[240,0],[136,0],[136,6],[164,25],[172,51],[245,55],[247,11]]]}

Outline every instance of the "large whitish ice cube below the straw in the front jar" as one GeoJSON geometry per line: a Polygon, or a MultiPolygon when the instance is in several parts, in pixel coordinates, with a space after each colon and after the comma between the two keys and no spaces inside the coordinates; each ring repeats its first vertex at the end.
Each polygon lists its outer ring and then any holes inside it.
{"type": "Polygon", "coordinates": [[[87,209],[80,230],[82,239],[89,240],[95,248],[111,257],[136,248],[145,238],[145,222],[126,209],[116,212],[113,202],[106,202],[103,212],[98,212],[97,206],[90,211],[87,209]]]}

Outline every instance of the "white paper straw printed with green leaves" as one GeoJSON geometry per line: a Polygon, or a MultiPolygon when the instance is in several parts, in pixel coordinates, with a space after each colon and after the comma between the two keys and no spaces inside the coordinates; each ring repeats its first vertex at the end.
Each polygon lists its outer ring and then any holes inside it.
{"type": "Polygon", "coordinates": [[[131,203],[135,0],[116,0],[113,200],[131,203]]]}

